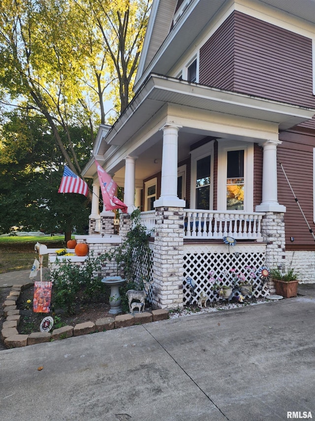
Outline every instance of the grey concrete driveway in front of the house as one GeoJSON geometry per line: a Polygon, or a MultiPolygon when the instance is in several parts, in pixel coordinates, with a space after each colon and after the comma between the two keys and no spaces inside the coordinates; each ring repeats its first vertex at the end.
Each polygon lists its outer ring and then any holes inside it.
{"type": "Polygon", "coordinates": [[[0,351],[0,420],[314,419],[314,310],[304,296],[0,351]]]}

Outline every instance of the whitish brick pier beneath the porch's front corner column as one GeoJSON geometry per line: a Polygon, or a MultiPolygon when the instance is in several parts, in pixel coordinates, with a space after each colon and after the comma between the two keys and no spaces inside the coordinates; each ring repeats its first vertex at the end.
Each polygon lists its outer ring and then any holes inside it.
{"type": "Polygon", "coordinates": [[[183,306],[183,259],[183,208],[156,208],[153,263],[155,307],[183,306]]]}

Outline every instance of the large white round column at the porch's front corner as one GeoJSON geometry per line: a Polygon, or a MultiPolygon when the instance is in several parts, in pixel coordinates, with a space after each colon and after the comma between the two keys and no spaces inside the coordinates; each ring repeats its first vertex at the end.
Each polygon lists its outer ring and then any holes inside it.
{"type": "Polygon", "coordinates": [[[181,126],[166,123],[163,130],[161,195],[154,207],[185,207],[185,200],[177,196],[178,131],[181,126]]]}

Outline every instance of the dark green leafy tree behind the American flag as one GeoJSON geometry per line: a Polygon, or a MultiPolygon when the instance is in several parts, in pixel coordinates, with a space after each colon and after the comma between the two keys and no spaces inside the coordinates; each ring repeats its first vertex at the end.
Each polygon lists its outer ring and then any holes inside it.
{"type": "MultiPolygon", "coordinates": [[[[69,131],[81,140],[75,147],[84,164],[90,157],[85,144],[89,133],[77,126],[69,127],[69,131]]],[[[58,193],[62,155],[45,119],[40,115],[7,113],[1,135],[0,231],[8,232],[12,226],[62,231],[66,240],[73,226],[84,232],[90,213],[88,200],[80,194],[58,193]]]]}

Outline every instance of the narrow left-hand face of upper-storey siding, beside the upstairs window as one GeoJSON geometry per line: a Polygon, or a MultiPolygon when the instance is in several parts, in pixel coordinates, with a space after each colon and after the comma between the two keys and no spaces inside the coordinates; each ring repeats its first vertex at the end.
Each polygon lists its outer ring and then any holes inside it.
{"type": "Polygon", "coordinates": [[[199,83],[233,90],[234,16],[230,15],[200,48],[199,83]]]}

